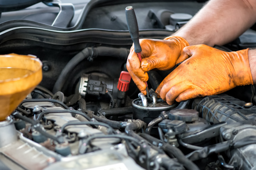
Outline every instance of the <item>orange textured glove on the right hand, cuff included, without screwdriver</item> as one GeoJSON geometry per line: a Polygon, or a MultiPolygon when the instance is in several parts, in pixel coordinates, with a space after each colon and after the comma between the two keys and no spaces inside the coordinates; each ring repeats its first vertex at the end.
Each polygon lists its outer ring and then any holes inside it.
{"type": "Polygon", "coordinates": [[[206,45],[189,46],[179,57],[185,59],[157,87],[157,95],[168,104],[253,84],[248,49],[224,52],[206,45]]]}

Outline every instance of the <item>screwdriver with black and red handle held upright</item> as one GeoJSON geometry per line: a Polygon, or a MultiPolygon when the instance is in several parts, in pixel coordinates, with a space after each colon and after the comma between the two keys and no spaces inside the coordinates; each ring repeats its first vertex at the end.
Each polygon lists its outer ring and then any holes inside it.
{"type": "MultiPolygon", "coordinates": [[[[141,54],[140,54],[141,46],[140,46],[140,41],[139,41],[139,27],[138,27],[138,22],[137,22],[137,18],[136,18],[133,7],[132,6],[126,7],[125,14],[126,14],[128,30],[131,34],[132,41],[134,43],[134,51],[137,53],[138,58],[140,59],[140,62],[141,62],[142,58],[141,58],[141,54]]],[[[146,84],[147,97],[149,98],[148,83],[145,81],[145,84],[146,84]]]]}

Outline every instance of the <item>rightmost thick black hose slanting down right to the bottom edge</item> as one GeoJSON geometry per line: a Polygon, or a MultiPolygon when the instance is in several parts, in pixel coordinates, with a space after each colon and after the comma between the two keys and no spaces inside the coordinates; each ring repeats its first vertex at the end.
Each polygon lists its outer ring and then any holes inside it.
{"type": "Polygon", "coordinates": [[[169,153],[169,154],[173,154],[179,163],[181,163],[182,165],[184,165],[188,170],[199,170],[199,168],[197,167],[197,165],[195,165],[191,160],[189,160],[182,152],[180,149],[176,148],[175,146],[171,146],[168,143],[163,143],[162,141],[160,141],[159,139],[152,137],[148,134],[140,134],[141,137],[145,138],[147,141],[149,141],[150,143],[154,143],[154,144],[160,144],[162,143],[162,149],[169,153]]]}

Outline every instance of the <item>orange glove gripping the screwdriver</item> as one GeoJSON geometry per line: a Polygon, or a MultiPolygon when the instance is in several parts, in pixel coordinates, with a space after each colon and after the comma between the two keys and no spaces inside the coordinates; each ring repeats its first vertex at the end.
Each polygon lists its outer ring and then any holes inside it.
{"type": "MultiPolygon", "coordinates": [[[[148,72],[152,69],[169,70],[176,65],[176,61],[182,53],[184,47],[189,43],[178,36],[170,36],[164,40],[160,39],[140,39],[141,63],[134,52],[134,45],[130,49],[126,67],[132,80],[139,90],[146,95],[146,84],[148,72]]],[[[180,61],[181,62],[181,61],[180,61]]]]}

